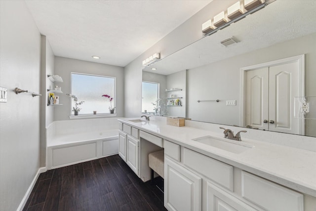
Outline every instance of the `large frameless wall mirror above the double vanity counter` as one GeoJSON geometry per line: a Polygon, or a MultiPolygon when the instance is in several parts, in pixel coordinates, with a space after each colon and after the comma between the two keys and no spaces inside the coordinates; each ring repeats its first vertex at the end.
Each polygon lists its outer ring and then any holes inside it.
{"type": "MultiPolygon", "coordinates": [[[[242,114],[245,115],[243,109],[246,104],[245,96],[250,99],[249,93],[244,90],[246,89],[246,72],[251,68],[260,69],[262,65],[262,68],[267,69],[265,74],[269,75],[275,69],[273,66],[282,65],[284,59],[288,61],[291,58],[293,62],[285,63],[293,63],[294,68],[301,68],[305,74],[304,79],[294,88],[300,90],[297,93],[299,96],[296,97],[300,97],[301,94],[316,96],[315,11],[315,1],[276,0],[236,23],[144,68],[143,81],[160,84],[159,96],[164,99],[164,103],[160,104],[164,108],[164,113],[160,115],[246,127],[248,126],[244,121],[246,117],[242,116],[242,114]],[[220,43],[230,37],[234,37],[237,43],[227,47],[220,43]],[[280,61],[280,64],[274,63],[277,61],[280,61]],[[269,67],[269,64],[274,65],[269,67]],[[248,70],[243,72],[247,68],[248,70]],[[180,101],[180,104],[175,106],[173,104],[175,100],[180,101]]],[[[277,83],[283,83],[282,87],[287,86],[286,84],[290,82],[287,83],[286,80],[291,78],[299,81],[300,75],[294,76],[288,73],[290,67],[285,65],[282,68],[271,77],[276,79],[277,83]]],[[[264,89],[264,87],[273,89],[270,84],[261,84],[260,77],[257,75],[249,77],[250,79],[258,77],[258,80],[249,82],[253,83],[254,87],[256,86],[255,90],[264,89]]],[[[273,81],[272,79],[270,81],[273,81]]],[[[291,90],[288,92],[291,93],[291,90]]],[[[291,117],[288,117],[286,121],[292,122],[294,99],[293,96],[284,96],[281,94],[278,102],[283,103],[281,106],[283,110],[290,110],[291,117]],[[290,103],[285,107],[284,102],[290,103]]],[[[260,107],[266,98],[253,94],[252,99],[254,102],[259,102],[260,107]]],[[[313,110],[316,105],[311,104],[310,107],[313,110]]],[[[273,108],[274,106],[268,110],[273,110],[273,108]]],[[[278,113],[283,110],[279,109],[278,113]]],[[[277,120],[270,123],[272,118],[262,118],[258,120],[260,122],[267,120],[268,125],[275,124],[275,126],[283,127],[282,124],[277,123],[277,120]]],[[[303,130],[294,131],[293,128],[289,128],[282,132],[316,137],[315,119],[300,119],[298,122],[303,130]]],[[[256,126],[251,123],[251,127],[280,131],[272,127],[261,127],[260,124],[256,126]]]]}

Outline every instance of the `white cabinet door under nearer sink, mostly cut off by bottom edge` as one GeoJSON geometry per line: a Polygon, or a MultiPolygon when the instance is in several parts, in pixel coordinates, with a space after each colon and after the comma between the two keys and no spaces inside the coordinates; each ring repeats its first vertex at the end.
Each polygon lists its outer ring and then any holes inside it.
{"type": "Polygon", "coordinates": [[[258,211],[210,182],[206,182],[206,195],[207,211],[258,211]]]}

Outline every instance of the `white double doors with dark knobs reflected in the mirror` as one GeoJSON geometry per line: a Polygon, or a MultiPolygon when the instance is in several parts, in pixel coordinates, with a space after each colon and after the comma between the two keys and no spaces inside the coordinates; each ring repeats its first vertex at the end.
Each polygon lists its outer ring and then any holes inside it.
{"type": "Polygon", "coordinates": [[[304,133],[294,118],[294,97],[300,96],[299,61],[248,70],[245,73],[245,124],[259,129],[304,133]]]}

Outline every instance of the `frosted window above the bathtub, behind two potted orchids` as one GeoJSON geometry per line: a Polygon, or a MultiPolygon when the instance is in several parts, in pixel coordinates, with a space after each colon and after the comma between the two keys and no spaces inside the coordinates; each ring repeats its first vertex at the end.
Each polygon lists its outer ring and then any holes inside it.
{"type": "MultiPolygon", "coordinates": [[[[93,114],[93,111],[97,111],[97,114],[109,114],[109,107],[115,107],[115,78],[71,73],[71,93],[77,96],[78,103],[84,101],[78,105],[81,108],[79,115],[93,114]],[[109,98],[102,97],[104,94],[113,97],[112,102],[109,98]]],[[[73,107],[76,107],[74,99],[71,103],[72,110],[73,107]]]]}

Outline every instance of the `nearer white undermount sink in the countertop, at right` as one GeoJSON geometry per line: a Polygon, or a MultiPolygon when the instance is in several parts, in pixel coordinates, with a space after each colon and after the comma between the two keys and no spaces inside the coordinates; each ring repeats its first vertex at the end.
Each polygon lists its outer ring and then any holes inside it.
{"type": "Polygon", "coordinates": [[[248,144],[244,144],[242,143],[242,141],[235,141],[210,135],[194,138],[192,140],[236,154],[242,153],[254,147],[248,144]]]}

